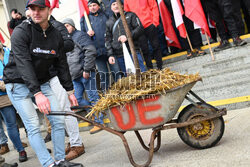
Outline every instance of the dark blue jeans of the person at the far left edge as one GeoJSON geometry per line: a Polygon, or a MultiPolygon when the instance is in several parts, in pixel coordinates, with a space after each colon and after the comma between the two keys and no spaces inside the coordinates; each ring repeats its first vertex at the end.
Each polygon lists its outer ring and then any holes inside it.
{"type": "Polygon", "coordinates": [[[12,141],[18,152],[23,151],[24,148],[16,124],[16,110],[13,106],[8,106],[1,108],[0,112],[7,127],[7,132],[10,140],[12,141]]]}

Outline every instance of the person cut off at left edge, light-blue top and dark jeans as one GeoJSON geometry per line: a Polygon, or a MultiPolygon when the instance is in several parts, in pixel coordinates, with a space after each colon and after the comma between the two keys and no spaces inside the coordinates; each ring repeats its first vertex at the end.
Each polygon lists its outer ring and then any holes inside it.
{"type": "MultiPolygon", "coordinates": [[[[22,145],[19,131],[17,128],[17,123],[16,123],[16,110],[12,106],[6,90],[5,90],[5,85],[2,80],[3,78],[3,70],[6,64],[8,63],[9,60],[9,54],[10,50],[6,47],[3,46],[3,44],[0,42],[0,113],[4,119],[5,125],[7,127],[7,132],[10,137],[10,140],[12,141],[13,145],[19,152],[19,161],[24,162],[27,161],[27,153],[24,150],[24,147],[22,145]]],[[[2,125],[2,122],[1,122],[2,125]]],[[[3,130],[3,127],[1,126],[1,129],[3,130]]],[[[4,140],[2,137],[6,137],[4,134],[4,131],[1,131],[1,140],[4,140]]],[[[5,154],[9,152],[9,147],[7,144],[7,137],[5,138],[5,141],[3,141],[4,144],[1,143],[1,152],[0,154],[5,154]]]]}

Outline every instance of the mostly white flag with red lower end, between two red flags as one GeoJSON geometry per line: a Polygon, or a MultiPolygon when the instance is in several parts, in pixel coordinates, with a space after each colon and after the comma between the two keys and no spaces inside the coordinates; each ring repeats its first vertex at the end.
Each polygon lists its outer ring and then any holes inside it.
{"type": "Polygon", "coordinates": [[[182,38],[186,38],[187,31],[186,31],[183,18],[182,18],[184,11],[182,9],[181,3],[179,0],[171,0],[171,4],[172,4],[173,13],[174,13],[175,25],[180,32],[180,36],[182,38]]]}

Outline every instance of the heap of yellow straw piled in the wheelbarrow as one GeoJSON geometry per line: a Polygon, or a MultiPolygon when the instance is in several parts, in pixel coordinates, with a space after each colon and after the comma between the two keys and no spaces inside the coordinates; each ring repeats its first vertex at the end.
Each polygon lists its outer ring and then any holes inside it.
{"type": "Polygon", "coordinates": [[[92,107],[86,117],[118,105],[125,105],[146,95],[165,94],[167,91],[185,84],[201,80],[197,74],[179,74],[169,68],[163,70],[151,69],[136,75],[129,75],[114,83],[106,94],[101,95],[99,101],[92,107]]]}

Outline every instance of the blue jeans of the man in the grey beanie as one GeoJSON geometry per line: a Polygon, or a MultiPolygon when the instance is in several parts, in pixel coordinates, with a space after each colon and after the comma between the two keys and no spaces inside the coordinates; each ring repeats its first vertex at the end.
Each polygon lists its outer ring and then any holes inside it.
{"type": "MultiPolygon", "coordinates": [[[[80,77],[73,80],[73,85],[75,89],[75,96],[80,106],[86,105],[86,100],[83,98],[84,91],[87,93],[90,105],[94,105],[98,101],[99,95],[96,89],[95,72],[90,72],[89,79],[80,77]]],[[[103,124],[103,114],[100,114],[99,117],[95,117],[95,122],[103,124]]]]}

